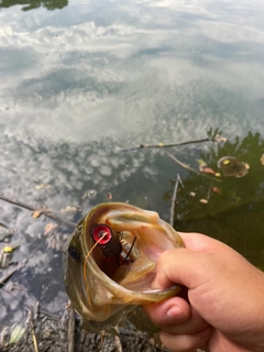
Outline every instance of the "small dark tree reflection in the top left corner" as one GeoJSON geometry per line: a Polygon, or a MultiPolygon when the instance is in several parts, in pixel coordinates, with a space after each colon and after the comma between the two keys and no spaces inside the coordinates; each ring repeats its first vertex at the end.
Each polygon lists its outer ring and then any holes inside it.
{"type": "Polygon", "coordinates": [[[63,9],[67,7],[67,0],[2,0],[0,2],[0,8],[10,8],[13,6],[22,6],[22,11],[29,11],[37,9],[40,7],[46,8],[47,10],[63,9]]]}

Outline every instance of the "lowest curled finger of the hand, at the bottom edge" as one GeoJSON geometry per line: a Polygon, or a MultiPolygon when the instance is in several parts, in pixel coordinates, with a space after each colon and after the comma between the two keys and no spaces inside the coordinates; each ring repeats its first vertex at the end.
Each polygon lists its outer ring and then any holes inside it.
{"type": "Polygon", "coordinates": [[[191,334],[172,334],[161,331],[160,340],[165,348],[174,352],[195,352],[206,344],[211,336],[211,327],[207,327],[199,332],[191,334]]]}

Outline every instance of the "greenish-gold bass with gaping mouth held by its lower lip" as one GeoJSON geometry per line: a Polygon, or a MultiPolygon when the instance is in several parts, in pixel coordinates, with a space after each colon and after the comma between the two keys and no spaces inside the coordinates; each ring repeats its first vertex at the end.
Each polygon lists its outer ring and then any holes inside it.
{"type": "Polygon", "coordinates": [[[81,219],[64,251],[65,287],[87,331],[118,324],[139,305],[173,297],[180,285],[151,284],[158,255],[184,248],[177,231],[157,212],[105,202],[81,219]]]}

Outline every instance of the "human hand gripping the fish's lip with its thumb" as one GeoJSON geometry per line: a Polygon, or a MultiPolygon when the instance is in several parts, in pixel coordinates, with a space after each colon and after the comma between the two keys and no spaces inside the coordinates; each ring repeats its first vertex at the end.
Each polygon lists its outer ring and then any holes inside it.
{"type": "Polygon", "coordinates": [[[264,274],[228,245],[199,233],[180,233],[186,249],[162,253],[153,288],[177,283],[175,296],[144,307],[172,351],[263,352],[264,274]]]}

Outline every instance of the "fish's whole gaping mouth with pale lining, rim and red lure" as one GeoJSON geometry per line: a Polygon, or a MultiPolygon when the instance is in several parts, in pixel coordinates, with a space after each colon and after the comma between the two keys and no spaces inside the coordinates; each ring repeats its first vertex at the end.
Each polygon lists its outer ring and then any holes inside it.
{"type": "Polygon", "coordinates": [[[182,246],[176,245],[174,235],[168,235],[175,231],[168,227],[154,211],[135,207],[113,209],[88,227],[88,248],[92,249],[96,265],[109,279],[129,290],[153,292],[151,284],[158,255],[182,246]]]}

